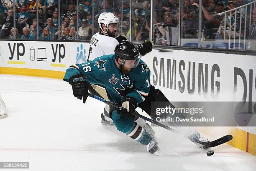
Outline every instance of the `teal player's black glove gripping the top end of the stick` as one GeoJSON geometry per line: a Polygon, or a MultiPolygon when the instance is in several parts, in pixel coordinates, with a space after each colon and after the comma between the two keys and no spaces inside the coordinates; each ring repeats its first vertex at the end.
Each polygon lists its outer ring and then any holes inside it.
{"type": "Polygon", "coordinates": [[[88,97],[88,83],[87,79],[83,74],[74,75],[69,78],[69,84],[72,85],[74,97],[82,100],[85,103],[88,97]]]}

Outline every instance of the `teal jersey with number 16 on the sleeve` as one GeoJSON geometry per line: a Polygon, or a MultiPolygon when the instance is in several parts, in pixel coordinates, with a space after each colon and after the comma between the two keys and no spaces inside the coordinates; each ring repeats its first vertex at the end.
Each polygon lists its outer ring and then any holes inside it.
{"type": "MultiPolygon", "coordinates": [[[[103,85],[110,101],[120,103],[124,96],[137,99],[138,104],[145,100],[150,90],[150,70],[142,60],[138,67],[123,74],[115,64],[115,55],[103,55],[93,61],[76,64],[76,67],[87,77],[91,84],[103,85]]],[[[81,74],[78,69],[70,67],[64,76],[64,81],[74,75],[81,74]]]]}

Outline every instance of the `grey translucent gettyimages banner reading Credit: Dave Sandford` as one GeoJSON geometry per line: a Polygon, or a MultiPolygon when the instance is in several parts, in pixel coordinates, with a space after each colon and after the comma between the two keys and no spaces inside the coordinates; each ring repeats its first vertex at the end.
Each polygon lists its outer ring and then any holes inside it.
{"type": "Polygon", "coordinates": [[[151,117],[171,126],[256,126],[256,102],[153,102],[151,117]]]}

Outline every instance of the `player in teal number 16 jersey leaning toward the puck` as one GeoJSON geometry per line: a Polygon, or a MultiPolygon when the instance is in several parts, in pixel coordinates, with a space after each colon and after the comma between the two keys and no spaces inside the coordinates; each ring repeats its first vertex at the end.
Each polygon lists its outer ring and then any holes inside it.
{"type": "MultiPolygon", "coordinates": [[[[84,103],[88,97],[88,83],[103,85],[108,99],[123,107],[122,110],[110,108],[110,118],[116,128],[141,144],[147,145],[147,151],[151,154],[158,151],[154,135],[137,124],[137,119],[140,118],[135,118],[130,113],[140,107],[151,116],[151,102],[169,100],[150,84],[150,70],[140,59],[138,49],[130,42],[119,43],[113,55],[103,55],[69,67],[64,81],[72,85],[74,96],[84,103]]],[[[197,140],[208,141],[197,131],[192,131],[187,137],[195,144],[197,140]]]]}

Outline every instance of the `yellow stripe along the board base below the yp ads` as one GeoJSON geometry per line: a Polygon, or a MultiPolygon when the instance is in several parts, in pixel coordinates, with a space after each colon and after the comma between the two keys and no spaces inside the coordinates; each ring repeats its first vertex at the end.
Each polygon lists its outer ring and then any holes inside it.
{"type": "Polygon", "coordinates": [[[43,70],[43,69],[0,67],[0,74],[14,74],[14,75],[26,75],[26,76],[34,76],[34,77],[63,79],[65,72],[50,71],[50,70],[43,70]]]}

